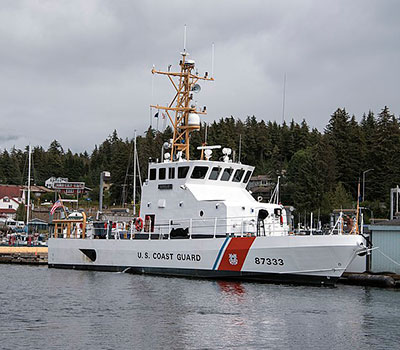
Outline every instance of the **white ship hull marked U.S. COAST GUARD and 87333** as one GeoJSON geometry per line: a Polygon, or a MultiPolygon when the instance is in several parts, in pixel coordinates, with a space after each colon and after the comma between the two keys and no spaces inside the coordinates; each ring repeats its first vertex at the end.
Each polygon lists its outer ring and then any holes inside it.
{"type": "Polygon", "coordinates": [[[49,267],[332,285],[359,236],[49,239],[49,267]]]}

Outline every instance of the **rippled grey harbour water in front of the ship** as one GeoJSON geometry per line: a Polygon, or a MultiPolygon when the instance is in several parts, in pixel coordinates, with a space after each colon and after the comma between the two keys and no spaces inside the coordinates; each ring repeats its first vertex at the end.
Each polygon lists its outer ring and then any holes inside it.
{"type": "Polygon", "coordinates": [[[399,298],[0,265],[0,348],[398,349],[399,298]]]}

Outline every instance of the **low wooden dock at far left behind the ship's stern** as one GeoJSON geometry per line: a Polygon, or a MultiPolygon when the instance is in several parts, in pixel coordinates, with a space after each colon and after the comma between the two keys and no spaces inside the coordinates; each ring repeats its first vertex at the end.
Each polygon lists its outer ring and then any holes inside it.
{"type": "Polygon", "coordinates": [[[0,263],[47,265],[47,247],[1,247],[0,263]]]}

